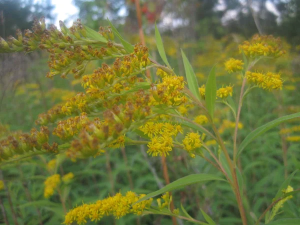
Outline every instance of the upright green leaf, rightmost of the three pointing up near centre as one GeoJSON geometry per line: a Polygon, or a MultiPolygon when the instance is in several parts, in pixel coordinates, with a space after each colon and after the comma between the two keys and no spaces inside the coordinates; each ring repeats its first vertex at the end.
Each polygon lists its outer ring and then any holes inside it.
{"type": "Polygon", "coordinates": [[[211,118],[213,118],[214,104],[216,98],[215,65],[211,68],[205,84],[206,108],[211,118]]]}

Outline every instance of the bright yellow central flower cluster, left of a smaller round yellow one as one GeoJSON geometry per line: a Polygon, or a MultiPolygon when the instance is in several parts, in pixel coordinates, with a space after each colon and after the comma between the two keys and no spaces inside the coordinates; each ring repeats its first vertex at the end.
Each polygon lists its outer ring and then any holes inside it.
{"type": "Polygon", "coordinates": [[[148,142],[147,153],[152,156],[169,155],[172,150],[173,138],[180,132],[182,127],[180,125],[173,125],[168,122],[152,122],[148,121],[139,128],[144,132],[150,141],[148,142]]]}

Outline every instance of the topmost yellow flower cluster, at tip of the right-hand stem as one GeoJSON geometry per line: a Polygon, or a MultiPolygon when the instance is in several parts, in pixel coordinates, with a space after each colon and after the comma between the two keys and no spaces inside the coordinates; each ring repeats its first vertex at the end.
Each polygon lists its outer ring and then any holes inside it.
{"type": "Polygon", "coordinates": [[[244,41],[238,46],[239,51],[250,57],[269,56],[279,57],[285,54],[280,38],[272,35],[260,36],[255,34],[250,41],[244,41]]]}

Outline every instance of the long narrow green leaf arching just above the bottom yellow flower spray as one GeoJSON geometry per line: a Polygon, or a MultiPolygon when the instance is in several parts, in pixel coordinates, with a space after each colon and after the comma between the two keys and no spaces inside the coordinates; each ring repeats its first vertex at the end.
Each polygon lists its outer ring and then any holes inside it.
{"type": "Polygon", "coordinates": [[[150,197],[154,197],[156,195],[165,193],[167,191],[179,189],[179,188],[182,188],[184,186],[187,186],[187,185],[190,185],[193,183],[205,182],[205,181],[210,181],[210,180],[226,181],[226,180],[222,179],[221,177],[214,175],[214,174],[205,174],[205,173],[190,174],[190,175],[181,177],[181,178],[165,185],[164,187],[160,188],[159,190],[148,193],[147,195],[145,195],[144,197],[142,197],[138,201],[136,201],[136,203],[146,200],[146,199],[149,199],[150,197]]]}

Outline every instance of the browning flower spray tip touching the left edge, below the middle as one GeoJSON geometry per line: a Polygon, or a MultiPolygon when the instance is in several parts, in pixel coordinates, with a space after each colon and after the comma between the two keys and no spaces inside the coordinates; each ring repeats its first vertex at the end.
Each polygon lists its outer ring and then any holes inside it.
{"type": "Polygon", "coordinates": [[[35,149],[57,152],[57,143],[49,145],[48,134],[49,130],[46,126],[40,126],[40,131],[32,128],[30,133],[10,133],[9,136],[0,140],[0,161],[35,149]]]}

